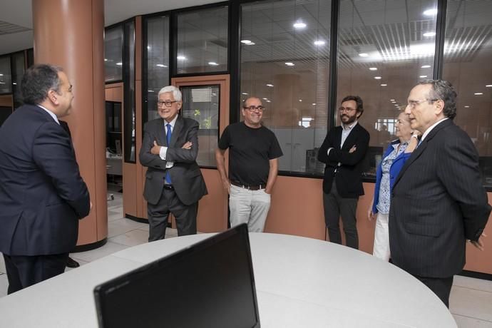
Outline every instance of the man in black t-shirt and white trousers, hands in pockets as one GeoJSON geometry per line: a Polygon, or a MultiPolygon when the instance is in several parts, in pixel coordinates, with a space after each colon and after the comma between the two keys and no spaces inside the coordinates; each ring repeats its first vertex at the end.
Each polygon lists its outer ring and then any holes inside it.
{"type": "Polygon", "coordinates": [[[283,155],[275,134],[261,123],[264,110],[260,98],[247,98],[241,109],[244,121],[227,126],[215,150],[217,169],[229,193],[230,225],[247,223],[250,232],[262,232],[265,227],[278,158],[283,155]]]}

